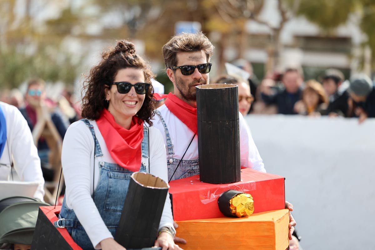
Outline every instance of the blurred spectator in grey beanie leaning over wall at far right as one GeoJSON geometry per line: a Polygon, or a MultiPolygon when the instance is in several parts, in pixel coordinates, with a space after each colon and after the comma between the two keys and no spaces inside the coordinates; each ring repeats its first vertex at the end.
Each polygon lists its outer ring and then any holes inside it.
{"type": "Polygon", "coordinates": [[[368,117],[375,117],[375,87],[367,75],[353,75],[348,92],[349,108],[359,117],[359,123],[363,123],[368,117]]]}

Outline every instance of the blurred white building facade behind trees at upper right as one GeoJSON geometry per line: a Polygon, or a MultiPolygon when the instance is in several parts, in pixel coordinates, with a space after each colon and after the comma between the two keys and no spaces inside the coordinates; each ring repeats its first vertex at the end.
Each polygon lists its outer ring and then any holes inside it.
{"type": "MultiPolygon", "coordinates": [[[[361,44],[366,36],[358,25],[358,16],[352,14],[345,25],[341,25],[327,34],[318,25],[309,22],[303,16],[294,16],[281,30],[280,64],[278,70],[285,67],[302,66],[305,77],[315,78],[324,69],[341,69],[345,76],[356,73],[363,56],[361,44]]],[[[277,27],[281,21],[276,0],[265,0],[259,19],[277,27]]],[[[255,73],[264,75],[264,65],[269,60],[269,46],[272,43],[272,29],[257,21],[246,23],[246,50],[243,57],[253,63],[255,73]],[[258,66],[258,67],[257,67],[258,66]]],[[[238,56],[235,45],[225,50],[228,61],[238,56]]],[[[259,76],[258,76],[259,77],[259,76]]]]}

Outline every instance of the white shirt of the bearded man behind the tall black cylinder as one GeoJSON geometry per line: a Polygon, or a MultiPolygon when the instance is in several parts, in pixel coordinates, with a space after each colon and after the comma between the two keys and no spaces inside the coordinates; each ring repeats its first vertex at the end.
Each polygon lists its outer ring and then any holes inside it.
{"type": "MultiPolygon", "coordinates": [[[[162,105],[158,109],[162,115],[169,131],[172,144],[174,147],[175,159],[181,159],[187,146],[189,145],[194,133],[180,120],[178,119],[169,109],[162,105]]],[[[153,118],[153,127],[157,128],[163,135],[164,142],[166,143],[166,137],[164,132],[164,126],[157,115],[153,118]]],[[[261,172],[266,172],[264,169],[263,160],[259,155],[257,146],[255,146],[254,140],[251,136],[246,121],[240,113],[239,120],[240,127],[240,155],[241,155],[241,166],[246,168],[252,168],[261,172]]],[[[219,135],[218,135],[219,136],[219,135]]],[[[166,157],[168,158],[168,157],[166,157]]],[[[186,151],[183,160],[194,160],[198,159],[198,136],[195,136],[189,149],[186,151]]]]}

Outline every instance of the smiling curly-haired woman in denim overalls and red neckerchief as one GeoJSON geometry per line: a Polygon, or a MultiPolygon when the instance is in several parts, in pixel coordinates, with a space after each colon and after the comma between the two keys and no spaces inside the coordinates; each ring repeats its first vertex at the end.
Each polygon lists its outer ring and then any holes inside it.
{"type": "MultiPolygon", "coordinates": [[[[83,119],[69,127],[63,141],[66,193],[55,225],[67,228],[82,249],[125,249],[114,235],[133,172],[168,181],[163,137],[144,124],[152,125],[152,77],[149,64],[127,41],[103,52],[87,77],[83,119]]],[[[168,198],[159,232],[155,246],[180,249],[173,242],[168,198]]]]}

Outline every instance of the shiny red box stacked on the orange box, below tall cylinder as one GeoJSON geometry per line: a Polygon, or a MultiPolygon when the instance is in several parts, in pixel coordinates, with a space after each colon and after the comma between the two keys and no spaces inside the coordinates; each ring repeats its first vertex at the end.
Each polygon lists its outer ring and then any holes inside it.
{"type": "Polygon", "coordinates": [[[225,217],[217,199],[226,190],[249,193],[254,198],[254,213],[285,208],[284,177],[262,173],[250,168],[241,169],[241,181],[229,184],[210,184],[195,175],[169,183],[174,220],[198,220],[225,217]]]}

